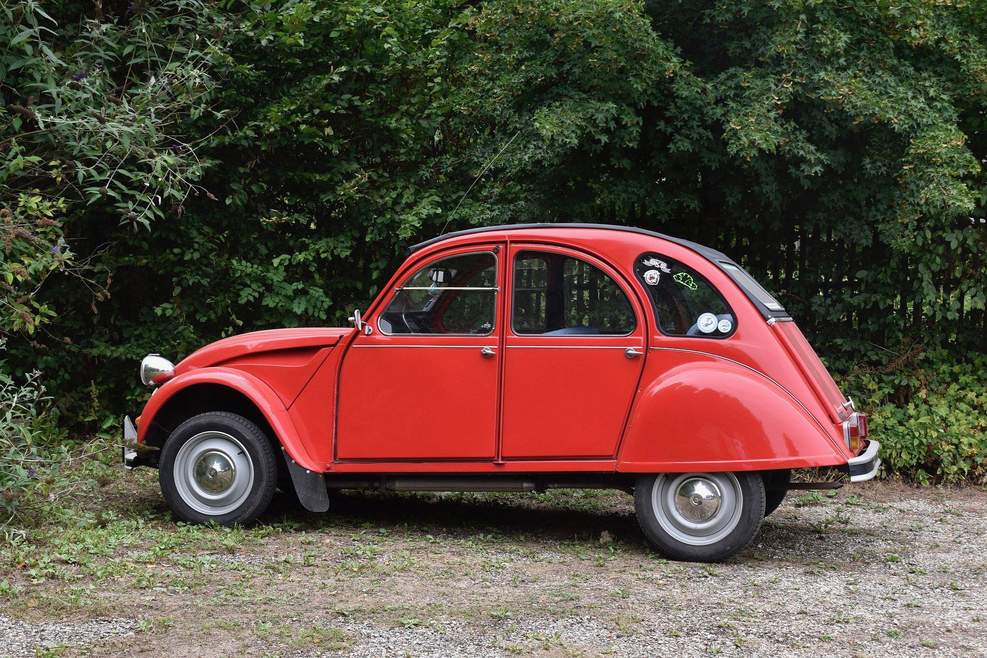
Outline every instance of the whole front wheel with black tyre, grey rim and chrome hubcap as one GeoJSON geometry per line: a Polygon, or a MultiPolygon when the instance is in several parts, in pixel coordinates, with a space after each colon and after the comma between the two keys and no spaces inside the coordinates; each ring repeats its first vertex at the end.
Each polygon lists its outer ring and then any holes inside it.
{"type": "Polygon", "coordinates": [[[227,411],[200,413],[165,441],[158,480],[172,511],[185,521],[247,524],[270,504],[277,456],[266,434],[247,418],[227,411]]]}

